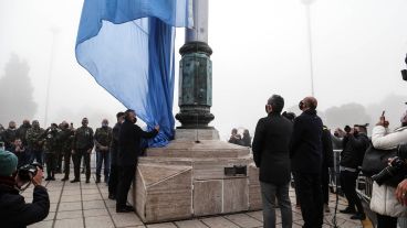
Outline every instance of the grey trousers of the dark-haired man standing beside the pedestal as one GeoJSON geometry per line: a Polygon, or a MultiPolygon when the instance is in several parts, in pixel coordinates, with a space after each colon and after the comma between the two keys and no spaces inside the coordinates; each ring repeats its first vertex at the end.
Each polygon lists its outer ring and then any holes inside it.
{"type": "Polygon", "coordinates": [[[290,183],[274,185],[260,182],[261,196],[263,202],[263,227],[275,228],[275,198],[278,198],[281,209],[282,228],[292,227],[292,209],[289,196],[290,183]]]}

